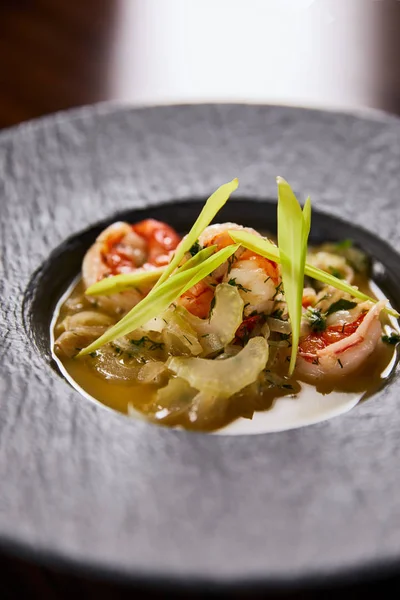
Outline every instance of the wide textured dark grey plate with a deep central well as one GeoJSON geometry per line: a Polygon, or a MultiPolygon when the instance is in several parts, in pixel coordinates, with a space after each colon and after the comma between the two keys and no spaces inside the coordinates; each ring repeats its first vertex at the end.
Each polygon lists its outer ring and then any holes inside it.
{"type": "Polygon", "coordinates": [[[208,436],[88,402],[46,347],[94,224],[149,207],[185,227],[194,204],[162,205],[203,199],[235,176],[257,204],[234,202],[226,216],[252,224],[256,207],[258,221],[283,175],[345,221],[317,218],[329,237],[352,231],[378,253],[400,299],[389,250],[400,249],[399,139],[392,117],[238,105],[99,106],[0,135],[4,548],[173,585],[299,587],[400,567],[398,373],[325,423],[208,436]]]}

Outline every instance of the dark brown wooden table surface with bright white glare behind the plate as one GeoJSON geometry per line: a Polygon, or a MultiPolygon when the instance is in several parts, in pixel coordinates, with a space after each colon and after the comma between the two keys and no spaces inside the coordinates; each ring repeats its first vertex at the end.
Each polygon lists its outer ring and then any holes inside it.
{"type": "MultiPolygon", "coordinates": [[[[105,100],[284,102],[400,114],[400,2],[283,4],[0,0],[0,128],[105,100]]],[[[131,596],[1,554],[1,598],[77,591],[87,598],[131,596]]],[[[390,595],[376,584],[351,588],[346,597],[368,593],[390,595]]]]}

